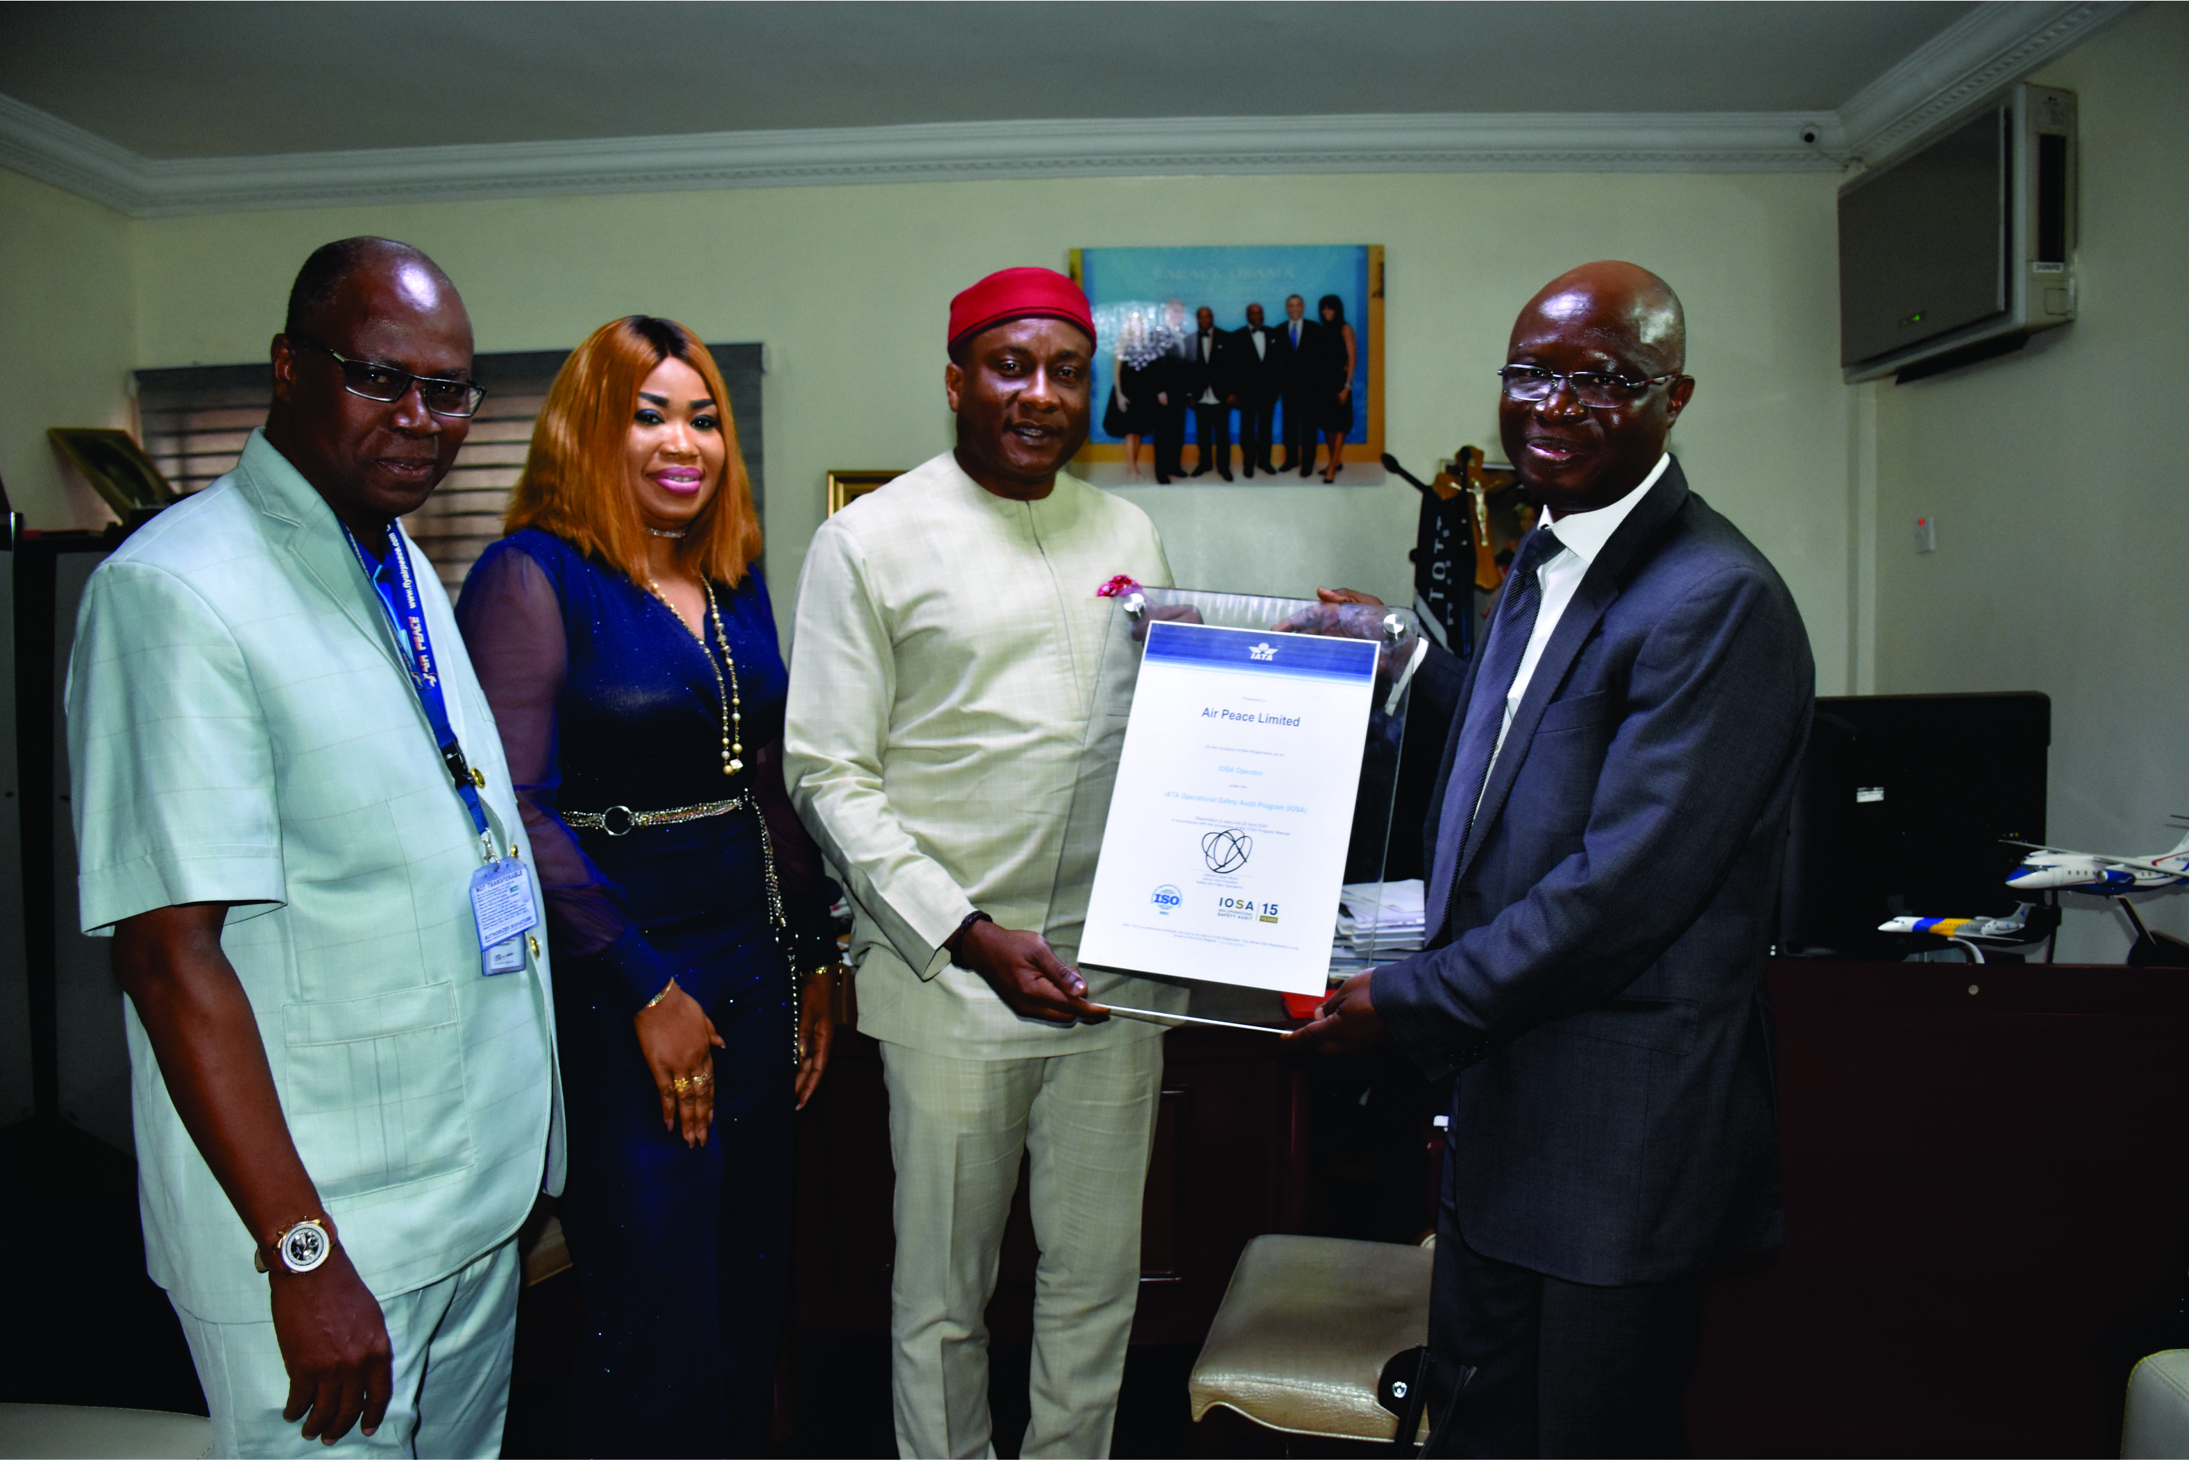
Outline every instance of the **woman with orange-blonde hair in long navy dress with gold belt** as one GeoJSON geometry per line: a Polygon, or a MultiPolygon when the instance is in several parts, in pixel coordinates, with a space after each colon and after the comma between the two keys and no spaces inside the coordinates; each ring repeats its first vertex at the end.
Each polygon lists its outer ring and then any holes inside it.
{"type": "Polygon", "coordinates": [[[578,346],[506,530],[458,622],[547,891],[571,1453],[766,1453],[834,889],[784,797],[788,672],[707,348],[644,315],[578,346]]]}

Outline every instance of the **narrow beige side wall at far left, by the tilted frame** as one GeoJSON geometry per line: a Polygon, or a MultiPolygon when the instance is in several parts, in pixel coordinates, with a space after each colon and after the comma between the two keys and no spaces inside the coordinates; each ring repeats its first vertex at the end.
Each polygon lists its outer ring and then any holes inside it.
{"type": "Polygon", "coordinates": [[[0,169],[0,482],[33,528],[112,517],[46,427],[129,427],[134,223],[0,169]]]}

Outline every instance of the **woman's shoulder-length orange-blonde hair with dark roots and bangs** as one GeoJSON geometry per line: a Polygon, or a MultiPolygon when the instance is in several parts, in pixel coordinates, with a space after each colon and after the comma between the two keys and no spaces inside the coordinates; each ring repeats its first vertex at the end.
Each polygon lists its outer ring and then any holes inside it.
{"type": "Polygon", "coordinates": [[[692,366],[722,422],[722,482],[676,543],[676,563],[700,578],[736,587],[760,558],[760,514],[738,451],[722,372],[698,337],[674,320],[628,315],[593,331],[547,387],[532,427],[525,471],[510,493],[503,532],[538,528],[582,554],[646,582],[646,523],[630,490],[624,442],[639,405],[639,385],[668,357],[692,366]]]}

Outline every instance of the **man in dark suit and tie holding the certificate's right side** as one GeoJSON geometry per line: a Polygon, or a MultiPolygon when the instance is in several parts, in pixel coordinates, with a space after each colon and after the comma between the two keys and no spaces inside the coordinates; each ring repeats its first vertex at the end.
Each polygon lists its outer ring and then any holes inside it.
{"type": "Polygon", "coordinates": [[[1521,311],[1499,436],[1548,517],[1473,663],[1416,672],[1429,946],[1294,1035],[1451,1077],[1429,1453],[1683,1453],[1701,1274],[1784,1239],[1762,981],[1815,668],[1666,455],[1683,363],[1635,265],[1521,311]]]}

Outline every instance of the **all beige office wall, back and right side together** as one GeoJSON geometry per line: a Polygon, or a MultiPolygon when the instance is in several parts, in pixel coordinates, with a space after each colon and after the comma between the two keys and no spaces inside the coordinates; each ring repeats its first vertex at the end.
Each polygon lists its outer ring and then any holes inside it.
{"type": "MultiPolygon", "coordinates": [[[[1786,573],[1819,690],[2045,690],[2053,838],[2143,851],[2189,810],[2185,637],[2161,600],[2189,525],[2163,370],[2189,333],[2185,74],[2189,7],[2150,7],[2038,77],[2082,99],[2073,326],[1858,390],[1834,366],[1830,175],[891,184],[129,221],[0,171],[0,471],[33,525],[99,521],[44,429],[125,425],[129,368],[260,359],[302,256],[387,232],[447,265],[486,350],[567,346],[628,311],[766,341],[768,569],[788,613],[823,473],[950,444],[943,311],[992,267],[1075,245],[1383,243],[1388,442],[1427,466],[1462,442],[1497,455],[1489,372],[1515,306],[1561,267],[1626,256],[1688,302],[1701,387],[1675,449],[1786,573]],[[1937,554],[1913,552],[1920,514],[1937,554]]],[[[1132,497],[1182,582],[1408,593],[1403,484],[1132,497]]],[[[2152,913],[2189,932],[2189,906],[2152,913]]],[[[2104,919],[2071,917],[2062,952],[2117,957],[2104,919]]]]}

